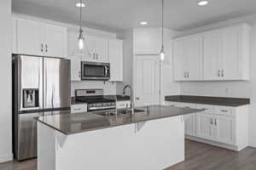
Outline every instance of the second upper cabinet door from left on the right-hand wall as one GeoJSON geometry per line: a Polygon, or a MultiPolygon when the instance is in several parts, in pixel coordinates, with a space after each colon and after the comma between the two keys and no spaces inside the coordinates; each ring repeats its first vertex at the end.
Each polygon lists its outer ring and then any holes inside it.
{"type": "Polygon", "coordinates": [[[201,37],[189,37],[186,40],[185,55],[189,62],[187,68],[189,80],[201,80],[202,79],[202,38],[201,37]]]}

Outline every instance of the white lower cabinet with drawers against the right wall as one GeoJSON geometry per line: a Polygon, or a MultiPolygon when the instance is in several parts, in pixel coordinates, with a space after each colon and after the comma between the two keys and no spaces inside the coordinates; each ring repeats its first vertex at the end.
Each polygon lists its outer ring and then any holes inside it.
{"type": "Polygon", "coordinates": [[[166,102],[166,105],[205,110],[184,116],[187,139],[236,151],[247,147],[248,105],[230,107],[179,102],[166,102]]]}

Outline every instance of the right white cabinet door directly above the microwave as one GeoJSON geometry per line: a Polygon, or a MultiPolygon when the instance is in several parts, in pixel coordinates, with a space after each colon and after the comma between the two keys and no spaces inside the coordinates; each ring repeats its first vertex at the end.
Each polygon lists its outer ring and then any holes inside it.
{"type": "Polygon", "coordinates": [[[108,62],[108,41],[95,37],[95,53],[97,62],[108,62]]]}

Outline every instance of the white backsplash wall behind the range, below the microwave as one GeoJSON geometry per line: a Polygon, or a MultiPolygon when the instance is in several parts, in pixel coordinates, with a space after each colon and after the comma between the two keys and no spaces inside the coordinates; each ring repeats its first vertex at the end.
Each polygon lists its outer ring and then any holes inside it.
{"type": "Polygon", "coordinates": [[[71,96],[75,95],[75,89],[88,89],[88,88],[102,88],[104,95],[116,94],[115,82],[96,82],[96,81],[83,81],[71,82],[71,96]]]}

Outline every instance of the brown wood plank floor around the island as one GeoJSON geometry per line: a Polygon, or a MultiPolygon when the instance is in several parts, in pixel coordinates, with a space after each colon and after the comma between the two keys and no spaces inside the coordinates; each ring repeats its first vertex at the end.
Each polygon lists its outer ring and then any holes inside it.
{"type": "MultiPolygon", "coordinates": [[[[166,170],[256,170],[256,149],[235,152],[186,140],[186,161],[166,170]]],[[[9,161],[0,170],[37,170],[37,160],[9,161]]]]}

